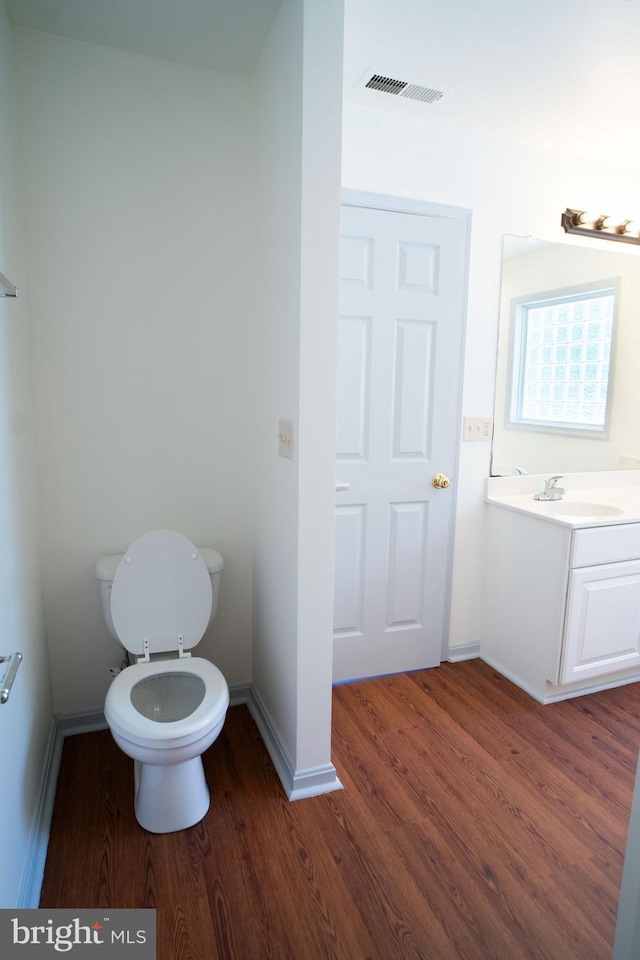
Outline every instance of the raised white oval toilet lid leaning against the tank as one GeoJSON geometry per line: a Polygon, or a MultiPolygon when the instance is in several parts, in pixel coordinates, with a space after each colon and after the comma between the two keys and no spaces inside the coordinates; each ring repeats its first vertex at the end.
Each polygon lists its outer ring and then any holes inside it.
{"type": "Polygon", "coordinates": [[[113,578],[111,616],[130,653],[195,647],[211,614],[211,578],[196,547],[181,533],[154,530],[133,543],[113,578]]]}

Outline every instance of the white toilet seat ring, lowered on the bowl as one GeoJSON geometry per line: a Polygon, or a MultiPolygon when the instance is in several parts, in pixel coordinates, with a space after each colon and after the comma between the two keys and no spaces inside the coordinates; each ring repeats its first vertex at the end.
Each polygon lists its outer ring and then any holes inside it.
{"type": "Polygon", "coordinates": [[[223,718],[229,706],[229,688],[218,668],[201,657],[134,663],[115,678],[104,705],[107,723],[126,740],[145,747],[182,747],[202,737],[223,718]],[[133,705],[133,688],[149,677],[187,674],[199,677],[204,696],[196,709],[181,720],[152,720],[133,705]]]}

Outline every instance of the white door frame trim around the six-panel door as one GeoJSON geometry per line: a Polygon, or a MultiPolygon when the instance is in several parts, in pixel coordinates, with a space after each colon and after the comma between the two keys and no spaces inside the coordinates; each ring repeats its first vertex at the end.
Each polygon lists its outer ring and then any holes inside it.
{"type": "MultiPolygon", "coordinates": [[[[458,440],[454,448],[453,475],[456,482],[459,482],[460,465],[460,443],[462,437],[462,393],[464,386],[465,370],[465,348],[467,333],[467,306],[469,297],[469,259],[471,247],[471,210],[465,207],[450,207],[446,204],[431,203],[427,200],[412,199],[409,197],[397,197],[384,193],[370,193],[365,190],[352,190],[343,187],[340,192],[340,207],[368,207],[372,210],[386,210],[390,213],[408,213],[415,216],[429,217],[436,219],[441,217],[446,220],[458,220],[462,226],[462,269],[464,290],[461,297],[461,340],[460,356],[458,358],[458,389],[452,398],[455,408],[456,418],[459,424],[458,440]]],[[[444,588],[444,610],[442,619],[442,644],[440,649],[440,662],[446,660],[449,654],[449,631],[451,627],[451,598],[453,589],[453,557],[455,548],[456,517],[458,515],[458,494],[459,487],[455,489],[455,500],[451,515],[449,518],[449,529],[447,535],[447,556],[443,558],[445,564],[445,588],[444,588]]]]}

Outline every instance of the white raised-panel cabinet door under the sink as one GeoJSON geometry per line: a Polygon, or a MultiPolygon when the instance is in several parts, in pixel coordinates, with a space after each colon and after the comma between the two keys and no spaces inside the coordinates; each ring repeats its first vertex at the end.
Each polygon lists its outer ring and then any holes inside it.
{"type": "Polygon", "coordinates": [[[640,667],[640,560],[571,570],[561,683],[640,667]]]}

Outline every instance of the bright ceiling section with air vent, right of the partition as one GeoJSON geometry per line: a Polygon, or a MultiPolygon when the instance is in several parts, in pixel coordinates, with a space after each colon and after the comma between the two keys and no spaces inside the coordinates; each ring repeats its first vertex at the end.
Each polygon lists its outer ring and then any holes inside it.
{"type": "Polygon", "coordinates": [[[345,97],[611,158],[640,147],[640,0],[347,0],[345,97]],[[394,105],[367,71],[444,91],[394,105]]]}

